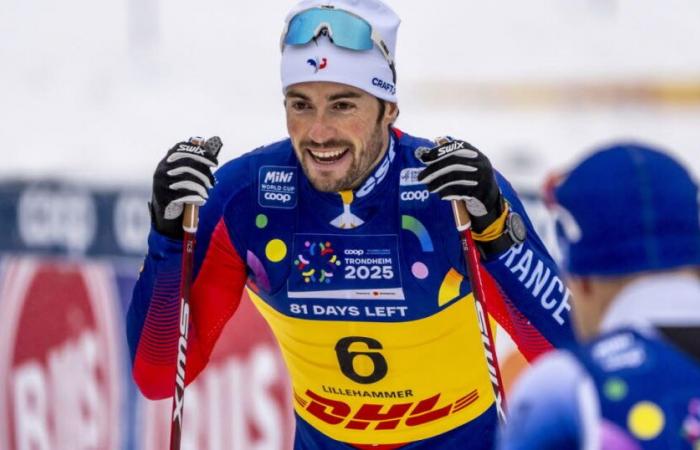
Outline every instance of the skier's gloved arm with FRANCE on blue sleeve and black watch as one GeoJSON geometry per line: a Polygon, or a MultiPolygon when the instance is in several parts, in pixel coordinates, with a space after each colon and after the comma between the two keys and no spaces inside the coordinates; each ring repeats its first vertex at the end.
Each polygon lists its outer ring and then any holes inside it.
{"type": "Polygon", "coordinates": [[[571,342],[568,290],[515,191],[486,155],[457,140],[422,152],[420,158],[427,167],[418,179],[430,192],[443,200],[466,202],[486,269],[482,272],[489,314],[530,360],[552,345],[571,342]],[[518,245],[504,234],[512,212],[527,227],[527,236],[518,245]],[[516,258],[518,255],[525,259],[516,258]]]}

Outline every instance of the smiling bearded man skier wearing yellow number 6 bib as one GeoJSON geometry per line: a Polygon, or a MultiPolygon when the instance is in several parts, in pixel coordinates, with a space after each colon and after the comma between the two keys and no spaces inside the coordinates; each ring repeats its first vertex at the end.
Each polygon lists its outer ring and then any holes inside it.
{"type": "Polygon", "coordinates": [[[160,162],[128,314],[147,397],[173,391],[186,202],[206,200],[187,381],[245,290],[290,374],[295,449],[492,447],[495,396],[450,200],[468,203],[487,282],[503,293],[490,313],[521,352],[573,340],[570,293],[486,156],[393,126],[398,25],[378,0],[300,3],[281,40],[289,138],[216,179],[216,158],[194,143],[160,162]]]}

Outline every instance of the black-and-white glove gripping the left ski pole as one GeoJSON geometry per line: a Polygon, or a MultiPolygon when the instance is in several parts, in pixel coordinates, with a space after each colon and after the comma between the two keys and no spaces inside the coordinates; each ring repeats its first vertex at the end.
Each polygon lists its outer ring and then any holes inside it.
{"type": "Polygon", "coordinates": [[[204,142],[190,138],[168,150],[153,175],[151,221],[155,229],[173,239],[182,239],[182,220],[178,220],[186,203],[202,206],[209,198],[207,191],[216,182],[211,173],[219,162],[216,157],[222,146],[218,136],[204,142]]]}

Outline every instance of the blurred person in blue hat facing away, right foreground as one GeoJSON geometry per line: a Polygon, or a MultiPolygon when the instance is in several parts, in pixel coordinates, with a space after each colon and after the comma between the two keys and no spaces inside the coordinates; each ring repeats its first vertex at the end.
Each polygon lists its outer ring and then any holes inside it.
{"type": "Polygon", "coordinates": [[[552,197],[582,346],[518,380],[498,447],[699,449],[697,184],[668,155],[622,143],[552,197]]]}

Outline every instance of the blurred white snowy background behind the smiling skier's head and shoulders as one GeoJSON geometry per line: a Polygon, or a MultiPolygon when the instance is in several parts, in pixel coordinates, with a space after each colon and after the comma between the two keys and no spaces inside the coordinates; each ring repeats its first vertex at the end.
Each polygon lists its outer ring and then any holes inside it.
{"type": "MultiPolygon", "coordinates": [[[[399,127],[465,138],[519,184],[592,146],[643,139],[700,173],[695,0],[394,0],[399,127]]],[[[0,177],[146,184],[162,153],[222,158],[285,135],[291,2],[4,0],[0,177]]]]}

